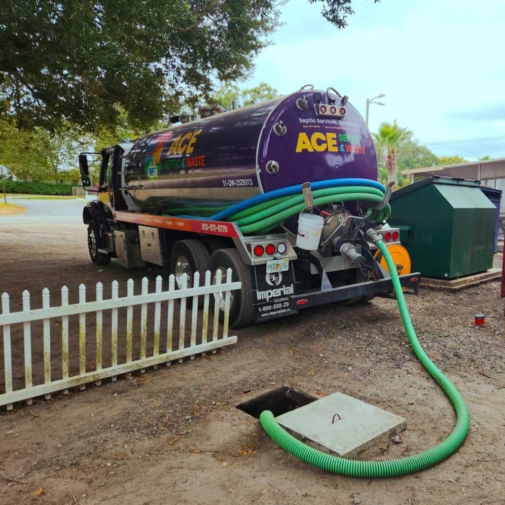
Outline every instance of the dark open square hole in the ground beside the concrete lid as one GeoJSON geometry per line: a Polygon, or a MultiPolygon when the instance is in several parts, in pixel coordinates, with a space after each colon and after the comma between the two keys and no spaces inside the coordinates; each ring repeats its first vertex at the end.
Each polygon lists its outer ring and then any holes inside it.
{"type": "Polygon", "coordinates": [[[304,405],[309,405],[317,399],[319,398],[292,387],[282,386],[270,389],[250,400],[239,403],[237,409],[257,419],[260,418],[260,414],[264,410],[271,411],[274,417],[277,417],[304,405]]]}

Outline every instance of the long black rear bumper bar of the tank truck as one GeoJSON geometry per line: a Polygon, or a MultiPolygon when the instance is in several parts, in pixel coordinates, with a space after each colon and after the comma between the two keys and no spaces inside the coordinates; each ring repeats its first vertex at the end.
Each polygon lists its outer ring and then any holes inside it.
{"type": "MultiPolygon", "coordinates": [[[[414,272],[408,275],[400,275],[400,284],[407,288],[412,289],[417,293],[417,286],[421,282],[421,274],[414,272]]],[[[329,304],[334,301],[347,300],[357,296],[370,296],[381,295],[393,290],[391,279],[379,279],[376,281],[360,282],[359,284],[352,284],[350,286],[341,286],[325,291],[314,291],[304,294],[295,294],[291,296],[293,305],[297,309],[308,309],[317,305],[329,304]]]]}

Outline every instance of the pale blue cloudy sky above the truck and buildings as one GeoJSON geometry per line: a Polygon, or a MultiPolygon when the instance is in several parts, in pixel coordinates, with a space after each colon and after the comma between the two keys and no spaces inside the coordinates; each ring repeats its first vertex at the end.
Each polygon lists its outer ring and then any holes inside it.
{"type": "Polygon", "coordinates": [[[333,86],[365,117],[408,127],[437,156],[505,158],[505,2],[353,0],[343,30],[321,4],[289,0],[283,26],[241,87],[264,81],[281,94],[333,86]]]}

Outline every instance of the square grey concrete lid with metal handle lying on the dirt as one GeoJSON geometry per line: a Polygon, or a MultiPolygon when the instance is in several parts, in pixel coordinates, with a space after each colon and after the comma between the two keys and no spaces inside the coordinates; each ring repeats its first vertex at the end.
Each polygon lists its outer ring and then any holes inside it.
{"type": "Polygon", "coordinates": [[[309,445],[343,458],[356,458],[377,439],[407,428],[405,419],[342,393],[330,394],[275,419],[309,445]]]}

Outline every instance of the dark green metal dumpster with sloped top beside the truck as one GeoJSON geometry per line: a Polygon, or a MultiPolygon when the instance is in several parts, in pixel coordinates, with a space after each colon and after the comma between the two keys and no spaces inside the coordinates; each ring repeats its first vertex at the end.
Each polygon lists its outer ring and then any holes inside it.
{"type": "Polygon", "coordinates": [[[390,203],[413,270],[454,279],[493,266],[496,208],[480,181],[435,175],[394,191],[390,203]]]}

